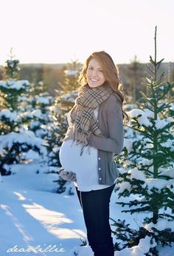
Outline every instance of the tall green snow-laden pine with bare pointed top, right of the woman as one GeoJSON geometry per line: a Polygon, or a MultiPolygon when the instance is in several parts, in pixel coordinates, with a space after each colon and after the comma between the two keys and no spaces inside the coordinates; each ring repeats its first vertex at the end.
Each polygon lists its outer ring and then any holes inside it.
{"type": "MultiPolygon", "coordinates": [[[[124,240],[124,246],[138,244],[145,235],[156,241],[157,245],[170,245],[174,242],[174,118],[173,97],[167,97],[174,84],[164,81],[164,73],[159,74],[161,61],[150,56],[147,64],[149,72],[143,80],[148,95],[142,94],[139,109],[129,112],[132,138],[125,138],[125,150],[116,161],[122,165],[116,184],[119,198],[136,195],[131,201],[119,201],[122,212],[130,214],[145,212],[146,217],[138,231],[128,229],[125,222],[114,223],[118,238],[124,240]],[[163,228],[161,228],[163,226],[163,228]],[[124,235],[123,235],[124,233],[124,235]]],[[[124,248],[124,247],[123,247],[124,248]]],[[[120,248],[119,248],[120,249],[120,248]]],[[[156,246],[149,254],[158,255],[156,246]]]]}

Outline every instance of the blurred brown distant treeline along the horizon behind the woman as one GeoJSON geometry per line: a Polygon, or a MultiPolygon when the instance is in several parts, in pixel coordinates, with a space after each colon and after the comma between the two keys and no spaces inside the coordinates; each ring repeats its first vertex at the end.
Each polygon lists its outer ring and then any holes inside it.
{"type": "MultiPolygon", "coordinates": [[[[43,81],[47,90],[55,95],[55,90],[60,89],[60,84],[64,84],[65,70],[69,70],[69,64],[20,64],[18,79],[26,79],[30,83],[36,84],[43,81]]],[[[78,70],[82,67],[78,65],[78,70]]],[[[139,91],[144,92],[142,78],[145,77],[147,67],[138,61],[132,61],[130,64],[118,64],[119,76],[124,84],[125,94],[136,101],[141,97],[139,91]]],[[[162,63],[160,71],[166,73],[166,81],[174,81],[174,63],[162,63]]],[[[0,67],[0,80],[4,77],[3,67],[0,67]]]]}

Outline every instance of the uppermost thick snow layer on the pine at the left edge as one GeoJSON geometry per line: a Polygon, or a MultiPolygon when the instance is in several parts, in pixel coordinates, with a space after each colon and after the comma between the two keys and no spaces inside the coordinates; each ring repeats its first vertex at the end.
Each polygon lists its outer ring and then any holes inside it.
{"type": "Polygon", "coordinates": [[[9,81],[0,81],[0,87],[5,87],[7,89],[21,90],[26,89],[29,86],[29,81],[27,80],[9,80],[9,81]]]}

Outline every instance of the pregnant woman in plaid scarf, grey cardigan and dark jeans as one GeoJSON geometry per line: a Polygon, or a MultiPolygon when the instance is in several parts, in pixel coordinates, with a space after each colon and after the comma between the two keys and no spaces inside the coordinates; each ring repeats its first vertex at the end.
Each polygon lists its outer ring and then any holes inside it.
{"type": "Polygon", "coordinates": [[[60,147],[60,177],[74,181],[94,256],[114,256],[109,203],[119,175],[113,157],[122,152],[124,139],[122,84],[105,51],[86,59],[79,81],[60,147]]]}

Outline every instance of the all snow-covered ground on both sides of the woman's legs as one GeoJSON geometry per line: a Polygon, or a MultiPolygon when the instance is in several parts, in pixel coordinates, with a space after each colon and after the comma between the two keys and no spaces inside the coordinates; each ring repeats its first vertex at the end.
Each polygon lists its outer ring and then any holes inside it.
{"type": "MultiPolygon", "coordinates": [[[[86,240],[86,227],[75,192],[55,193],[57,175],[44,173],[44,166],[36,163],[16,164],[11,170],[15,174],[3,176],[0,183],[0,256],[92,256],[88,246],[80,246],[86,240]]],[[[139,226],[142,215],[122,213],[116,201],[113,192],[111,218],[139,226]]],[[[147,243],[148,239],[142,240],[115,256],[145,255],[147,243]]],[[[160,250],[160,256],[172,255],[174,246],[160,250]]]]}

